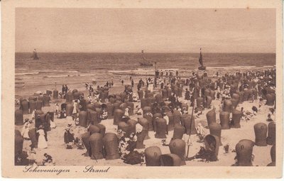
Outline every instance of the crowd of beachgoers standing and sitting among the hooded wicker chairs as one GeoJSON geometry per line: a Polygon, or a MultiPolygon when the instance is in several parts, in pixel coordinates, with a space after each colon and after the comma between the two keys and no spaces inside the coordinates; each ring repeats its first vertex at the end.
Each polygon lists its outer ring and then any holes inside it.
{"type": "MultiPolygon", "coordinates": [[[[190,114],[188,111],[190,110],[189,107],[192,107],[192,116],[194,116],[195,120],[199,120],[200,116],[204,113],[205,109],[212,109],[217,110],[214,106],[210,105],[205,107],[204,103],[209,102],[209,98],[207,97],[207,89],[210,89],[214,92],[214,99],[219,101],[219,111],[223,110],[223,105],[226,99],[233,99],[233,94],[237,92],[246,92],[247,90],[253,90],[253,94],[248,94],[246,97],[249,102],[258,102],[258,106],[252,106],[251,109],[244,109],[241,107],[240,111],[242,113],[241,119],[244,121],[250,121],[253,119],[253,116],[256,116],[259,111],[266,105],[266,94],[268,92],[275,92],[275,70],[265,70],[262,71],[246,71],[246,72],[234,72],[228,73],[221,77],[217,72],[215,76],[211,79],[208,77],[207,72],[203,72],[200,75],[199,72],[193,72],[190,77],[187,79],[182,79],[178,75],[178,71],[174,76],[171,74],[167,76],[167,72],[165,73],[166,76],[163,77],[163,72],[159,72],[158,76],[155,77],[148,77],[145,79],[139,79],[137,82],[137,90],[146,89],[149,92],[154,92],[154,89],[170,89],[171,94],[167,95],[167,99],[163,99],[162,103],[155,103],[152,106],[152,112],[148,112],[143,114],[143,107],[136,106],[135,113],[138,117],[150,116],[153,120],[159,119],[160,116],[154,117],[159,113],[163,119],[165,119],[167,130],[166,134],[168,135],[168,126],[170,124],[170,119],[168,117],[167,111],[170,111],[172,114],[174,112],[179,112],[180,115],[183,114],[190,114]],[[158,87],[160,85],[160,87],[158,87]],[[185,89],[185,94],[177,94],[175,89],[181,88],[182,90],[185,89]],[[215,94],[216,93],[216,94],[215,94]],[[202,97],[203,102],[201,105],[197,105],[197,98],[202,97]],[[169,110],[164,110],[163,106],[166,106],[165,102],[168,102],[167,106],[169,110]]],[[[138,101],[138,97],[136,96],[136,92],[134,92],[134,79],[130,77],[131,84],[126,86],[124,89],[124,102],[136,102],[138,101]]],[[[121,84],[124,85],[124,79],[121,79],[121,84]]],[[[78,149],[84,149],[84,143],[82,138],[80,138],[80,134],[84,133],[91,124],[87,125],[87,128],[80,129],[79,126],[79,114],[80,111],[87,110],[87,104],[101,104],[102,111],[100,111],[99,119],[104,120],[108,119],[108,110],[107,106],[105,105],[106,102],[109,102],[109,89],[114,86],[114,82],[111,81],[106,82],[103,87],[97,86],[94,89],[93,85],[89,83],[85,83],[86,90],[89,91],[87,97],[84,95],[80,95],[78,99],[72,99],[72,121],[67,124],[64,132],[64,143],[67,149],[72,149],[76,146],[78,149]],[[107,93],[106,93],[107,92],[107,93]],[[75,125],[75,126],[73,126],[75,125]]],[[[60,98],[67,99],[67,94],[70,91],[70,88],[67,85],[62,85],[62,92],[60,92],[60,98]]],[[[21,104],[21,102],[19,103],[21,104]]],[[[270,112],[267,117],[267,121],[275,121],[275,104],[274,108],[270,109],[270,112]]],[[[131,119],[129,115],[130,107],[126,107],[124,109],[124,116],[122,117],[124,120],[131,119]]],[[[234,107],[236,109],[236,107],[234,107]]],[[[23,123],[23,128],[21,131],[21,135],[25,140],[30,140],[30,136],[28,135],[28,131],[31,130],[31,125],[33,124],[36,131],[36,139],[38,141],[37,148],[45,149],[48,148],[48,131],[53,128],[56,128],[55,122],[51,117],[53,116],[50,112],[45,114],[44,119],[40,117],[40,115],[35,115],[35,111],[33,111],[31,119],[25,119],[23,123]]],[[[66,112],[66,104],[54,104],[53,113],[55,114],[55,118],[57,119],[66,119],[67,112],[66,112]]],[[[200,138],[200,142],[204,140],[204,136],[207,135],[207,131],[204,128],[205,126],[199,122],[196,126],[197,136],[200,138]]],[[[136,151],[136,141],[137,136],[143,130],[143,126],[141,124],[136,125],[136,132],[130,133],[129,137],[125,136],[124,131],[117,130],[117,136],[119,138],[119,154],[122,160],[125,163],[131,164],[131,158],[136,158],[136,161],[133,163],[143,163],[144,162],[144,153],[136,151]]],[[[189,138],[190,139],[190,138],[189,138]]],[[[188,142],[190,144],[191,142],[188,142]]],[[[192,143],[191,143],[192,144],[192,143]]],[[[165,142],[163,145],[167,145],[165,142]]],[[[35,147],[31,146],[31,157],[35,153],[35,147]]],[[[213,147],[212,147],[213,148],[213,147]]],[[[204,147],[200,148],[200,151],[189,160],[202,158],[205,161],[216,161],[217,158],[214,158],[214,149],[207,150],[204,147]]],[[[46,160],[45,163],[54,163],[53,158],[45,153],[46,160]]]]}

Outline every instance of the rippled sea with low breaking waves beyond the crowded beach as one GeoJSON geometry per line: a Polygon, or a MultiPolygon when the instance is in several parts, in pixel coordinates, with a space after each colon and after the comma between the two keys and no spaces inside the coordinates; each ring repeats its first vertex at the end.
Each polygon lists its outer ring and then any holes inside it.
{"type": "MultiPolygon", "coordinates": [[[[113,79],[120,81],[129,76],[153,76],[153,67],[141,67],[141,53],[15,53],[15,91],[31,92],[43,89],[60,89],[72,84],[83,89],[85,82],[104,85],[113,79]],[[142,75],[139,75],[141,72],[142,75]]],[[[144,53],[148,61],[156,62],[158,70],[175,69],[187,77],[199,66],[200,53],[144,53]]],[[[251,70],[275,66],[275,53],[202,53],[207,70],[251,70]]]]}

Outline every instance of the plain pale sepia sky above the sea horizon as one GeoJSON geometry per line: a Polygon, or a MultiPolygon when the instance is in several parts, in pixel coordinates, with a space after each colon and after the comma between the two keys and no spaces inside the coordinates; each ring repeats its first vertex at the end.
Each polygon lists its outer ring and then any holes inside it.
{"type": "Polygon", "coordinates": [[[16,9],[16,52],[275,53],[275,9],[16,9]]]}

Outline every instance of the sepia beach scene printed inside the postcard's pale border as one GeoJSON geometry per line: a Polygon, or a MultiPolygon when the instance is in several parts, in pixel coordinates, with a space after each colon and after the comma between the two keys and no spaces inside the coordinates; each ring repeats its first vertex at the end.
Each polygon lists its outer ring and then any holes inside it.
{"type": "Polygon", "coordinates": [[[282,169],[276,15],[16,7],[13,166],[282,169]]]}

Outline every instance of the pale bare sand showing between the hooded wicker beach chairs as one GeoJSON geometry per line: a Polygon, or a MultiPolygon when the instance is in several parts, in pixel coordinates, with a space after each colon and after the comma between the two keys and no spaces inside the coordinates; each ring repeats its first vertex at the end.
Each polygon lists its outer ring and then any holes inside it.
{"type": "MultiPolygon", "coordinates": [[[[256,70],[263,70],[266,69],[266,67],[258,67],[256,70]]],[[[256,71],[254,70],[254,71],[256,71]]],[[[208,75],[211,76],[213,72],[216,72],[219,70],[208,70],[208,75]]],[[[219,72],[220,75],[224,75],[224,71],[219,72]]],[[[124,84],[131,84],[129,80],[129,76],[124,76],[125,82],[124,84]]],[[[213,78],[213,77],[212,77],[213,78]]],[[[135,85],[133,87],[133,92],[137,92],[136,84],[138,82],[138,79],[140,77],[138,76],[132,76],[132,79],[134,79],[135,85]]],[[[103,82],[103,81],[101,81],[103,82]]],[[[84,95],[87,96],[88,91],[83,87],[82,84],[67,84],[70,89],[78,89],[79,91],[84,92],[84,95]]],[[[102,84],[101,84],[102,85],[102,84]]],[[[58,84],[60,87],[60,84],[58,84]]],[[[182,99],[185,98],[185,88],[183,88],[182,93],[182,99]]],[[[45,92],[44,90],[53,90],[53,86],[42,86],[42,87],[36,87],[37,90],[41,90],[45,92]]],[[[146,87],[143,87],[143,89],[146,89],[146,87]]],[[[28,97],[31,96],[31,92],[35,91],[34,89],[26,89],[21,92],[16,92],[17,97],[28,97]]],[[[114,80],[114,87],[111,87],[109,89],[109,94],[116,94],[124,91],[124,86],[121,84],[120,79],[114,80]]],[[[160,92],[160,89],[155,88],[154,90],[155,94],[160,92]]],[[[43,107],[43,112],[47,111],[54,111],[54,104],[55,102],[64,103],[65,99],[59,99],[54,100],[51,99],[50,106],[43,107]]],[[[188,101],[188,104],[190,102],[188,101]]],[[[221,104],[220,100],[213,100],[212,106],[216,107],[216,118],[217,123],[219,123],[219,104],[221,104]]],[[[134,102],[134,108],[136,105],[140,106],[140,102],[134,102]]],[[[244,107],[244,110],[251,110],[252,106],[258,106],[258,100],[254,102],[244,102],[242,104],[239,104],[236,109],[240,110],[241,107],[244,107]]],[[[255,141],[255,134],[253,131],[253,126],[257,123],[264,123],[268,124],[266,121],[267,114],[269,112],[269,108],[273,108],[273,106],[262,106],[261,109],[258,111],[258,114],[256,116],[253,116],[251,120],[249,121],[241,121],[241,128],[231,128],[228,130],[222,130],[222,136],[221,136],[221,142],[223,146],[219,147],[219,155],[218,155],[218,161],[216,162],[209,162],[204,163],[201,160],[188,160],[186,161],[185,166],[230,166],[235,163],[234,158],[236,156],[236,153],[234,152],[236,143],[238,143],[241,139],[249,139],[251,141],[255,141]],[[229,153],[225,153],[224,145],[229,144],[229,153]]],[[[16,106],[16,109],[18,107],[16,106]]],[[[207,111],[210,111],[211,109],[205,109],[202,112],[202,115],[199,119],[195,119],[195,126],[197,126],[198,123],[202,123],[202,125],[205,127],[205,130],[207,133],[209,133],[209,128],[207,128],[207,119],[206,114],[207,111]]],[[[135,112],[136,110],[134,110],[135,112]]],[[[192,107],[189,107],[187,110],[188,112],[192,112],[192,107]]],[[[142,116],[140,116],[142,117],[142,116]]],[[[31,114],[24,115],[24,119],[31,119],[31,114]]],[[[133,115],[130,116],[131,119],[137,120],[138,116],[133,115]]],[[[89,157],[85,157],[83,154],[86,152],[86,150],[79,150],[77,148],[73,148],[72,150],[66,149],[65,143],[64,143],[64,131],[67,124],[73,123],[72,126],[75,126],[74,121],[72,121],[71,116],[67,116],[66,119],[57,119],[55,118],[55,124],[56,128],[52,129],[51,131],[48,131],[48,148],[46,149],[37,149],[37,157],[38,159],[43,159],[43,154],[48,153],[48,155],[52,155],[55,160],[55,165],[114,165],[114,166],[123,166],[127,165],[123,163],[123,160],[116,159],[116,160],[91,160],[89,157]]],[[[101,124],[106,126],[106,133],[116,133],[117,126],[113,125],[113,119],[106,119],[102,120],[101,124]]],[[[16,126],[16,129],[21,131],[22,126],[16,126]]],[[[150,139],[145,140],[144,144],[146,145],[146,148],[150,146],[158,146],[163,154],[170,153],[170,149],[168,146],[162,146],[161,139],[155,138],[154,132],[149,131],[150,139]]],[[[170,142],[170,139],[173,137],[173,131],[169,131],[167,135],[167,142],[170,142]]],[[[185,139],[184,135],[184,139],[185,139]]],[[[190,137],[192,141],[192,146],[190,146],[189,150],[189,157],[194,156],[199,150],[200,146],[204,146],[204,143],[198,143],[198,136],[192,135],[190,137]]],[[[186,139],[185,139],[186,141],[186,139]]],[[[31,150],[30,148],[31,141],[24,141],[23,142],[23,150],[31,150]]],[[[141,152],[144,149],[139,149],[138,151],[141,152]]],[[[271,146],[253,146],[253,155],[255,155],[253,165],[256,166],[266,166],[268,163],[271,163],[271,155],[270,155],[271,146]]],[[[141,165],[134,165],[134,166],[141,166],[141,165]]],[[[142,166],[146,166],[145,164],[142,166]]]]}

